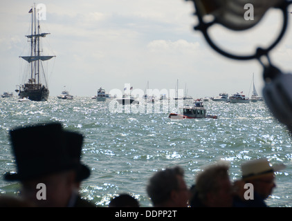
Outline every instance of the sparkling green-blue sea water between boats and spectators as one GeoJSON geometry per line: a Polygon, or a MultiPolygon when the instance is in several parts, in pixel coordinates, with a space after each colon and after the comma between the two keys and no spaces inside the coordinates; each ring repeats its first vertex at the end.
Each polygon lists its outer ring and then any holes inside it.
{"type": "MultiPolygon", "coordinates": [[[[82,162],[91,169],[91,176],[82,182],[80,193],[97,206],[108,206],[120,193],[131,193],[141,206],[152,206],[146,193],[149,177],[169,166],[181,166],[191,186],[204,166],[224,160],[234,181],[241,177],[241,163],[261,157],[271,164],[286,164],[284,171],[276,173],[277,187],[266,200],[268,206],[292,206],[291,137],[264,102],[205,102],[207,113],[219,115],[218,119],[177,121],[165,111],[113,113],[110,102],[90,97],[50,97],[47,102],[27,103],[0,99],[0,192],[19,191],[17,182],[6,182],[2,175],[15,171],[9,130],[61,122],[66,130],[84,134],[82,162]]],[[[192,105],[192,100],[183,102],[192,105]]]]}

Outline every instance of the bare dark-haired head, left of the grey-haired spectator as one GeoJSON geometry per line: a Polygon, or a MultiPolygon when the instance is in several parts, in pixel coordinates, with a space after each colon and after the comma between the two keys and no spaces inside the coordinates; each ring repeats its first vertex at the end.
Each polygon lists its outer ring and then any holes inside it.
{"type": "Polygon", "coordinates": [[[147,193],[154,206],[188,206],[190,192],[179,166],[156,172],[149,180],[147,193]]]}

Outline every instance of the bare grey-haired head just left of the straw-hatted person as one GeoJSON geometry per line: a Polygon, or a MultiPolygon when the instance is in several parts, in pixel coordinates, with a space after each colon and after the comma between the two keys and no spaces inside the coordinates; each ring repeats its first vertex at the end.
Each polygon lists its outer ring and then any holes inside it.
{"type": "Polygon", "coordinates": [[[212,164],[196,178],[198,198],[207,207],[232,206],[232,185],[228,175],[227,164],[212,164]]]}

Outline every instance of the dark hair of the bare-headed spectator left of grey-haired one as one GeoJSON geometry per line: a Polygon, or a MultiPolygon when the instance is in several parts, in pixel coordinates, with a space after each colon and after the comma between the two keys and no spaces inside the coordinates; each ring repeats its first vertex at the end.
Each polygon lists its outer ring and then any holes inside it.
{"type": "Polygon", "coordinates": [[[170,198],[172,190],[179,190],[179,180],[177,176],[183,177],[183,169],[179,166],[158,171],[149,180],[147,193],[154,205],[161,204],[170,198]]]}

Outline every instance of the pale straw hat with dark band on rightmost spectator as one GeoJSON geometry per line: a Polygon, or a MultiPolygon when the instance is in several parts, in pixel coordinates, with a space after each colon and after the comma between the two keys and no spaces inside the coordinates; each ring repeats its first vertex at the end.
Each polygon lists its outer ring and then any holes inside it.
{"type": "Polygon", "coordinates": [[[266,159],[250,160],[241,164],[242,179],[254,179],[260,175],[281,171],[285,167],[284,164],[274,164],[271,166],[266,159]]]}

